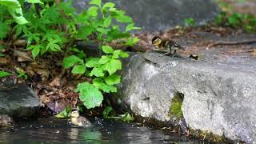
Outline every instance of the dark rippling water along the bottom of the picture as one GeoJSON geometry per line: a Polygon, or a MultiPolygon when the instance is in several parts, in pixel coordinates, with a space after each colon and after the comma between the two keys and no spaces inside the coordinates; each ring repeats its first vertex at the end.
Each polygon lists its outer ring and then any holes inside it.
{"type": "Polygon", "coordinates": [[[94,126],[70,126],[65,119],[39,118],[0,128],[0,143],[202,143],[134,123],[95,118],[94,126]]]}

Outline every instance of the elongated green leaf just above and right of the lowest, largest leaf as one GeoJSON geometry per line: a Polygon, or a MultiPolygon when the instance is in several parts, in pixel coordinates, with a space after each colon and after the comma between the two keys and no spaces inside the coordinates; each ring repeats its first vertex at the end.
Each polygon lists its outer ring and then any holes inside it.
{"type": "Polygon", "coordinates": [[[93,84],[106,93],[116,93],[118,91],[115,86],[110,86],[104,83],[102,78],[94,78],[93,84]]]}

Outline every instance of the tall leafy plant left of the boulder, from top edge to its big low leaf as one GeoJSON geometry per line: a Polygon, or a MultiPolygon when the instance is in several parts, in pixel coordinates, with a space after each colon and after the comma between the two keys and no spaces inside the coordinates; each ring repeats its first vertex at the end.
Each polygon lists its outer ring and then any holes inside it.
{"type": "MultiPolygon", "coordinates": [[[[125,38],[126,42],[123,45],[134,46],[138,42],[138,38],[130,37],[128,32],[139,29],[134,27],[132,19],[124,11],[117,10],[112,2],[102,5],[100,0],[92,0],[90,5],[92,6],[86,13],[82,13],[76,19],[78,22],[81,20],[86,20],[86,22],[82,22],[81,28],[78,33],[74,33],[74,36],[84,39],[94,35],[98,42],[98,48],[103,54],[100,58],[81,58],[71,55],[63,60],[64,68],[72,68],[72,74],[88,74],[93,78],[92,82],[79,83],[75,90],[80,94],[80,100],[88,109],[102,104],[102,93],[117,92],[114,85],[120,83],[121,76],[116,72],[122,70],[122,62],[118,58],[129,56],[122,50],[114,50],[108,43],[125,38]],[[122,31],[119,26],[111,24],[114,20],[127,23],[126,30],[122,31]]],[[[81,55],[81,51],[79,53],[81,55]]]]}

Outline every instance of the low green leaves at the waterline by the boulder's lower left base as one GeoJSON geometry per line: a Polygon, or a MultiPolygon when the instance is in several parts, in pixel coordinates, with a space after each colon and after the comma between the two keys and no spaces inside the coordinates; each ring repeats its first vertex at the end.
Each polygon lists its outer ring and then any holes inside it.
{"type": "Polygon", "coordinates": [[[126,114],[120,114],[120,115],[115,114],[111,106],[107,106],[102,114],[103,114],[103,118],[120,119],[124,122],[131,122],[134,120],[134,118],[128,112],[126,112],[126,114]]]}

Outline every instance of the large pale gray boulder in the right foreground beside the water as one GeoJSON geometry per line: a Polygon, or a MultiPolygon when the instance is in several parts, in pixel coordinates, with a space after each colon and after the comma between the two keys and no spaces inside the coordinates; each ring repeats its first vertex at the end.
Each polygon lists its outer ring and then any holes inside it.
{"type": "Polygon", "coordinates": [[[178,91],[191,129],[256,142],[256,60],[238,64],[136,54],[123,71],[118,101],[142,117],[168,122],[178,91]]]}

